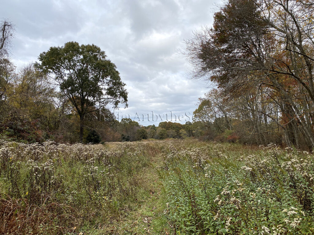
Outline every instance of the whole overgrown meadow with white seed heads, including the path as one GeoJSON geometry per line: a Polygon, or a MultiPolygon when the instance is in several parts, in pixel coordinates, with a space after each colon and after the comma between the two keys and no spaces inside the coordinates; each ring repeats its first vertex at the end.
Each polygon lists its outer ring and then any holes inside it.
{"type": "Polygon", "coordinates": [[[313,234],[313,155],[196,140],[0,142],[0,234],[313,234]]]}

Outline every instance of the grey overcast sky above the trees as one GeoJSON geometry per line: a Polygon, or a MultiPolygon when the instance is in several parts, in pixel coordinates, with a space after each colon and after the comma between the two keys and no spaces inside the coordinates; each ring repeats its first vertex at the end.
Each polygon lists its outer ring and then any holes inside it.
{"type": "Polygon", "coordinates": [[[185,123],[207,89],[204,82],[189,79],[191,67],[179,50],[185,48],[183,40],[193,30],[212,24],[218,3],[10,0],[1,4],[0,18],[16,26],[12,50],[16,65],[34,62],[49,47],[68,41],[96,44],[106,51],[127,84],[129,107],[115,112],[120,120],[130,115],[142,125],[151,125],[166,118],[171,121],[172,113],[172,121],[185,123]]]}

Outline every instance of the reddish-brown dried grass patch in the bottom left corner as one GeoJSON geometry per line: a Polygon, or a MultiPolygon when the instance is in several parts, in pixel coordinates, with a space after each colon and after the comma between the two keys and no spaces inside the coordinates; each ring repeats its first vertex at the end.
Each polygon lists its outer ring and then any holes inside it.
{"type": "Polygon", "coordinates": [[[73,232],[73,227],[81,220],[79,213],[72,207],[56,202],[44,203],[41,206],[30,204],[27,199],[1,199],[0,234],[41,234],[44,232],[73,232]],[[56,218],[62,218],[58,225],[56,218]],[[71,217],[71,220],[68,218],[71,217]],[[70,223],[69,223],[70,222],[70,223]],[[71,223],[72,222],[72,223],[71,223]],[[54,226],[52,226],[54,225],[54,226]]]}

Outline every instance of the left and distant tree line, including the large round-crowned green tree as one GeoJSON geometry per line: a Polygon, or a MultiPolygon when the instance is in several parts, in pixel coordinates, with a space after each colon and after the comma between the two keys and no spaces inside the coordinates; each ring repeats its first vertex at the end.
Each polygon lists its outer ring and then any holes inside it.
{"type": "Polygon", "coordinates": [[[130,118],[120,122],[112,110],[127,107],[127,91],[116,66],[94,44],[68,42],[16,67],[10,61],[14,25],[1,23],[0,137],[22,142],[52,139],[99,143],[200,137],[201,122],[162,122],[144,127],[130,118]]]}

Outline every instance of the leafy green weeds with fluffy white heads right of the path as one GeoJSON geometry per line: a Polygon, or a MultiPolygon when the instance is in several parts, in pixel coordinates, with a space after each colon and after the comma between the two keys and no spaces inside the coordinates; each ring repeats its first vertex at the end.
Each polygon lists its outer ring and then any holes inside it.
{"type": "Polygon", "coordinates": [[[170,145],[165,214],[176,234],[313,234],[313,155],[275,145],[170,145]]]}

